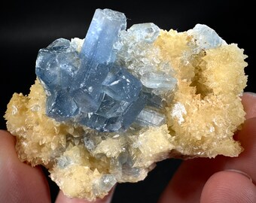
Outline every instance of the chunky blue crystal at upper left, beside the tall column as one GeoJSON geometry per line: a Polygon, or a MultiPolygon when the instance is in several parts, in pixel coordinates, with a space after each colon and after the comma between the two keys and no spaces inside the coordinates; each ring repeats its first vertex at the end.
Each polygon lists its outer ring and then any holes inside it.
{"type": "Polygon", "coordinates": [[[81,65],[78,53],[67,52],[69,46],[69,40],[59,38],[38,52],[35,73],[49,92],[53,92],[53,89],[69,89],[81,65]]]}

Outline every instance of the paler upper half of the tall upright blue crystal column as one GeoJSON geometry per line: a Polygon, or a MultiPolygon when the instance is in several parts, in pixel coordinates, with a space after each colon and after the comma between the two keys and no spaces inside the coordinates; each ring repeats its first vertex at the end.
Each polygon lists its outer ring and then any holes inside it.
{"type": "Polygon", "coordinates": [[[119,32],[126,29],[126,17],[123,13],[110,9],[96,9],[93,20],[84,39],[81,59],[87,68],[93,63],[114,62],[114,43],[119,32]]]}

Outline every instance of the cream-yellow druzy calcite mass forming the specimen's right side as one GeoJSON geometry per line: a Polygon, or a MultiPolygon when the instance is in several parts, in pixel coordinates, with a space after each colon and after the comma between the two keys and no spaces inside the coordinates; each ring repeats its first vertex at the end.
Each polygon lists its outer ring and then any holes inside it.
{"type": "Polygon", "coordinates": [[[247,81],[247,56],[236,44],[195,55],[194,43],[187,32],[173,30],[162,31],[155,42],[179,79],[166,111],[175,150],[184,156],[237,156],[241,147],[233,133],[245,116],[239,95],[247,81]]]}

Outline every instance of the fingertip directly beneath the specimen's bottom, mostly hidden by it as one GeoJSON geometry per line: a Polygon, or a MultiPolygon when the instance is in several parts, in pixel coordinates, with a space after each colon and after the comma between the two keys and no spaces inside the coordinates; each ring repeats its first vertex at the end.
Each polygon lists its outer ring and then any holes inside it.
{"type": "MultiPolygon", "coordinates": [[[[113,194],[114,194],[114,188],[111,189],[108,195],[106,195],[104,198],[99,198],[96,201],[93,201],[93,203],[110,203],[113,194]]],[[[66,195],[64,195],[61,190],[59,190],[59,194],[56,198],[56,203],[90,203],[90,202],[92,201],[87,201],[81,198],[69,198],[66,195]]]]}

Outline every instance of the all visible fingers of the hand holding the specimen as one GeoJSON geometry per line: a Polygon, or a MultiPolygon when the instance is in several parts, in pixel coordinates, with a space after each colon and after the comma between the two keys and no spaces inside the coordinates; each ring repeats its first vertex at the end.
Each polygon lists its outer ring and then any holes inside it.
{"type": "MultiPolygon", "coordinates": [[[[256,202],[256,94],[245,93],[242,103],[246,120],[234,138],[244,151],[236,158],[217,156],[184,161],[160,197],[166,202],[256,202]]],[[[32,168],[17,157],[14,136],[0,131],[0,201],[50,202],[50,190],[40,167],[32,168]]],[[[113,191],[104,199],[110,202],[113,191]]],[[[56,203],[85,203],[82,199],[67,198],[62,191],[56,203]]]]}

